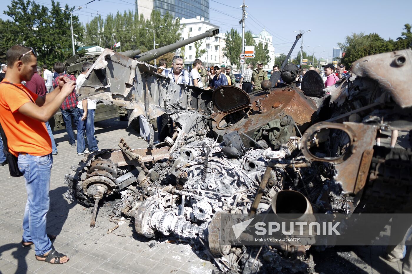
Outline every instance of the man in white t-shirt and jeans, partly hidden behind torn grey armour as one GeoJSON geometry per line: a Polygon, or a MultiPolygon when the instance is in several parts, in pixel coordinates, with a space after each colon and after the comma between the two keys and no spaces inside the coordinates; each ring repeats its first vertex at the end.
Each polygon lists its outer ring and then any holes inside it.
{"type": "MultiPolygon", "coordinates": [[[[82,73],[76,79],[76,91],[79,90],[78,85],[82,82],[86,73],[91,68],[92,64],[86,62],[82,65],[82,73]]],[[[96,109],[97,100],[90,100],[89,98],[79,101],[77,104],[78,112],[78,127],[77,127],[77,155],[92,153],[98,150],[96,137],[94,137],[94,110],[96,109]],[[86,121],[86,137],[89,150],[84,144],[84,121],[86,121]]]]}

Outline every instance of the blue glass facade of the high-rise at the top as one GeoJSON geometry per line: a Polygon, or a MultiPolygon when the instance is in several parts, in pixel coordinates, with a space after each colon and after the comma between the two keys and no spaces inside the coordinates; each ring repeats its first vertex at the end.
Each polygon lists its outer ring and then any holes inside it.
{"type": "Polygon", "coordinates": [[[209,21],[209,0],[153,0],[153,9],[164,15],[169,12],[173,17],[204,17],[209,21]]]}

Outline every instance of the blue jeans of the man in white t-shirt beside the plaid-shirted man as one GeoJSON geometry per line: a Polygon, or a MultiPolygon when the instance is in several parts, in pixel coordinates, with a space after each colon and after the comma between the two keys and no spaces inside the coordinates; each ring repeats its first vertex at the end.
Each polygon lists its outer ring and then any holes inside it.
{"type": "Polygon", "coordinates": [[[94,109],[87,110],[86,121],[82,121],[84,110],[77,108],[77,112],[77,120],[79,122],[77,125],[77,153],[82,153],[86,147],[84,144],[84,122],[86,122],[86,137],[89,151],[98,150],[96,137],[94,137],[94,109]]]}

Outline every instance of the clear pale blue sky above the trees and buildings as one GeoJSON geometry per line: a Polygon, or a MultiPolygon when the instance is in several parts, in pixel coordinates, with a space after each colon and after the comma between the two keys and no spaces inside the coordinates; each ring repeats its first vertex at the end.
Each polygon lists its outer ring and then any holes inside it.
{"type": "MultiPolygon", "coordinates": [[[[90,0],[62,0],[61,6],[82,6],[75,12],[80,21],[87,23],[92,16],[101,14],[134,10],[134,0],[96,0],[89,5],[90,0]]],[[[145,1],[145,0],[138,0],[145,1]]],[[[220,26],[220,32],[236,28],[241,33],[242,0],[209,0],[210,22],[220,26]],[[218,10],[219,12],[217,12],[218,10]]],[[[3,10],[7,9],[11,0],[2,0],[3,10]]],[[[51,7],[51,0],[36,0],[40,5],[51,7]]],[[[384,39],[396,39],[402,32],[405,23],[412,23],[412,1],[383,1],[383,0],[344,0],[344,1],[274,1],[274,0],[245,0],[248,6],[246,30],[260,33],[265,29],[273,35],[275,53],[288,53],[295,40],[293,31],[311,30],[304,34],[304,51],[311,53],[314,46],[318,57],[321,51],[323,58],[332,57],[333,47],[343,42],[346,35],[351,33],[378,33],[384,39]]],[[[7,19],[2,12],[0,18],[7,19]]],[[[297,54],[300,42],[292,55],[297,54]]]]}

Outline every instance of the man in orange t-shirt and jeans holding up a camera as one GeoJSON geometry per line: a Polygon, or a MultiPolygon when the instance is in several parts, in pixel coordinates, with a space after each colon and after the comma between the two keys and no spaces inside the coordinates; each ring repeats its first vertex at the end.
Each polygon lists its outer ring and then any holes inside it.
{"type": "Polygon", "coordinates": [[[8,69],[0,84],[0,123],[7,136],[10,153],[18,158],[26,181],[27,203],[23,216],[23,246],[35,245],[36,259],[65,263],[69,258],[55,251],[46,233],[49,211],[52,144],[44,122],[56,113],[76,82],[59,78],[59,86],[38,96],[21,84],[37,71],[37,56],[32,48],[12,46],[6,53],[8,69]]]}

